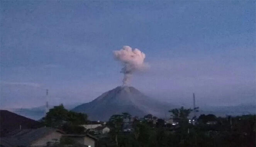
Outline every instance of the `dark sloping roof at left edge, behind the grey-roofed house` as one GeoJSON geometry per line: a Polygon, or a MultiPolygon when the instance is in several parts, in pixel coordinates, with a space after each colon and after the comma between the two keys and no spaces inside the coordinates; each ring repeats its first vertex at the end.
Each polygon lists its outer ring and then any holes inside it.
{"type": "Polygon", "coordinates": [[[0,136],[4,137],[6,134],[18,129],[36,129],[43,127],[43,125],[27,117],[15,114],[7,110],[0,110],[0,136]]]}

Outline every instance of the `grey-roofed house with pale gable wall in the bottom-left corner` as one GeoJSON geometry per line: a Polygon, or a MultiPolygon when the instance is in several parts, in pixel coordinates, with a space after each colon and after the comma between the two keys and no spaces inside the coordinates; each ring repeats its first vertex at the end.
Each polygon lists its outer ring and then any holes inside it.
{"type": "Polygon", "coordinates": [[[15,130],[1,137],[1,147],[42,147],[50,146],[60,141],[64,134],[61,130],[51,127],[41,127],[38,129],[15,130]]]}

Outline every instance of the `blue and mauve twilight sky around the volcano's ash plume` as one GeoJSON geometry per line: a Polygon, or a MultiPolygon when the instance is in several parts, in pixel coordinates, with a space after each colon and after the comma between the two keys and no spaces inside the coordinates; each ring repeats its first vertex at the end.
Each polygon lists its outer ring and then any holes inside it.
{"type": "Polygon", "coordinates": [[[81,104],[122,85],[185,105],[255,104],[255,1],[1,1],[1,109],[81,104]],[[49,89],[46,98],[45,89],[49,89]]]}

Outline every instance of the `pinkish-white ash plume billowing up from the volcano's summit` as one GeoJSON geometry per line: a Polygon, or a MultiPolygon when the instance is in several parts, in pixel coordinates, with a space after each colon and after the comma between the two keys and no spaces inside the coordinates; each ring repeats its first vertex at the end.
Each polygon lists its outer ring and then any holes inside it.
{"type": "Polygon", "coordinates": [[[133,72],[144,70],[147,67],[144,63],[146,55],[137,48],[124,46],[122,49],[114,51],[114,57],[124,65],[121,70],[121,73],[124,73],[123,85],[129,83],[133,72]]]}

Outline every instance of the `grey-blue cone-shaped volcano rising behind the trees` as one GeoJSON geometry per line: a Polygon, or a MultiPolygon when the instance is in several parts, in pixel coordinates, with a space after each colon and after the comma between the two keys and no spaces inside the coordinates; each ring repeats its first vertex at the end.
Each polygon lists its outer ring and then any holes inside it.
{"type": "Polygon", "coordinates": [[[108,120],[111,115],[122,112],[139,117],[146,114],[164,117],[174,107],[151,99],[134,87],[119,86],[103,93],[92,102],[78,105],[73,111],[86,113],[90,120],[108,120]]]}

